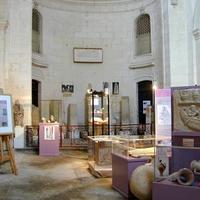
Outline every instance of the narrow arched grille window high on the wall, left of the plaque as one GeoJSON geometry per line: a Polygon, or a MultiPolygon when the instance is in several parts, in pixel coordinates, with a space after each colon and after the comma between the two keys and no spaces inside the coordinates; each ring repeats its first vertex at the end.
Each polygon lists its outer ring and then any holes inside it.
{"type": "Polygon", "coordinates": [[[41,16],[36,9],[32,11],[32,51],[41,53],[41,16]]]}

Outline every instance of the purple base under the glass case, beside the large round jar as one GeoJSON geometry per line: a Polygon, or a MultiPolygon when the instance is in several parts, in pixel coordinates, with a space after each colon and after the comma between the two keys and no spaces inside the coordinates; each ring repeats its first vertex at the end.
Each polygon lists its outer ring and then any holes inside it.
{"type": "Polygon", "coordinates": [[[126,158],[112,154],[112,187],[124,197],[133,197],[129,189],[132,172],[147,162],[145,158],[126,158]]]}

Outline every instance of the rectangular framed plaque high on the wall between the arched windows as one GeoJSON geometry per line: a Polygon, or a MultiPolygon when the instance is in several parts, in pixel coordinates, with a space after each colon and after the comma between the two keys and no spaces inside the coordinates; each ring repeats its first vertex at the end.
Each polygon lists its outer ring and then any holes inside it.
{"type": "Polygon", "coordinates": [[[103,63],[102,48],[73,48],[74,63],[103,63]]]}

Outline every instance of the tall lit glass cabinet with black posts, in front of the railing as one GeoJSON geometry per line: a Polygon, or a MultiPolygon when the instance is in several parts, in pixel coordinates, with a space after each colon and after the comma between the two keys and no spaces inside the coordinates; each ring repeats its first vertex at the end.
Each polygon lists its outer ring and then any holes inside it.
{"type": "Polygon", "coordinates": [[[109,133],[109,95],[92,91],[86,95],[86,119],[90,136],[109,133]]]}

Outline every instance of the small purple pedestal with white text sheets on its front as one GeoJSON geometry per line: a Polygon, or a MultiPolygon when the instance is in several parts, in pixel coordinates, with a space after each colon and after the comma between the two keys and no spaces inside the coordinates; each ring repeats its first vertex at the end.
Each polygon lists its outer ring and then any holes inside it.
{"type": "Polygon", "coordinates": [[[40,123],[39,155],[59,155],[60,130],[58,123],[40,123]]]}

